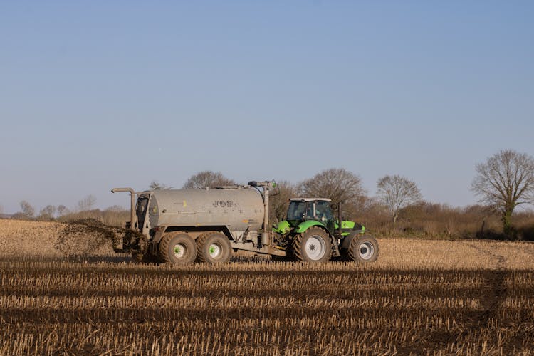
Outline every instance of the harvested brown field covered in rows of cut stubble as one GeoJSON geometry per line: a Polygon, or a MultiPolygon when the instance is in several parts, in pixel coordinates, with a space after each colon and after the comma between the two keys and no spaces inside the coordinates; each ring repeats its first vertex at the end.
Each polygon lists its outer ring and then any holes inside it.
{"type": "Polygon", "coordinates": [[[78,251],[70,228],[0,221],[0,355],[534,352],[533,244],[380,239],[370,266],[174,267],[101,236],[78,251]]]}

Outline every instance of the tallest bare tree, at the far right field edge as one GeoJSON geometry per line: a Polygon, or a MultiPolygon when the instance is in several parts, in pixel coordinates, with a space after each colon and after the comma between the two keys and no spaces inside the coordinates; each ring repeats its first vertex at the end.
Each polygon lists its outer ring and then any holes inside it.
{"type": "Polygon", "coordinates": [[[471,190],[480,197],[481,203],[500,211],[503,231],[511,234],[515,206],[534,203],[533,157],[514,150],[501,150],[476,165],[471,190]]]}

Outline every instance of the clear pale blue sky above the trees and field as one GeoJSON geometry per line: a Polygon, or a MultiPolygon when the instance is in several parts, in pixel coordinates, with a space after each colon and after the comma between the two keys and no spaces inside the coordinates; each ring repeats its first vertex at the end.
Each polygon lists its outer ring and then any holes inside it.
{"type": "Polygon", "coordinates": [[[1,1],[0,205],[330,167],[466,206],[534,155],[533,1],[1,1]]]}

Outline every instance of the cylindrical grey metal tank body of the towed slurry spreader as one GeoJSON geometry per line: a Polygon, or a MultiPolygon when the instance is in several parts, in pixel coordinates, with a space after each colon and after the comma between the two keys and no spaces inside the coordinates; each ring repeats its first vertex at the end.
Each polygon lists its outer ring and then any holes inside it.
{"type": "Polygon", "coordinates": [[[261,229],[263,199],[251,187],[162,189],[152,192],[150,226],[229,226],[231,231],[261,229]]]}

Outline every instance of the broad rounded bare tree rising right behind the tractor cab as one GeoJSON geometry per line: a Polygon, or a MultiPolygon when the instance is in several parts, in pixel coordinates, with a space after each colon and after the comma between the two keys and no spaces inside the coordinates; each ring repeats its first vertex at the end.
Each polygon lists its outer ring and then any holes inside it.
{"type": "Polygon", "coordinates": [[[343,203],[345,211],[354,214],[365,190],[362,179],[357,174],[343,168],[325,169],[299,184],[300,195],[314,198],[332,199],[332,207],[337,211],[337,203],[343,203]]]}

